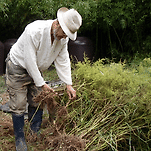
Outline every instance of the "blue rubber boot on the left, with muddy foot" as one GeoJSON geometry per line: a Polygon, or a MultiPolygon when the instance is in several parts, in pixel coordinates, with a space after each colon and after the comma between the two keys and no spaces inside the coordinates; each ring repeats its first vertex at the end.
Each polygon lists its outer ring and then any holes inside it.
{"type": "Polygon", "coordinates": [[[13,127],[16,142],[16,151],[27,151],[24,136],[24,115],[16,115],[12,113],[13,127]]]}

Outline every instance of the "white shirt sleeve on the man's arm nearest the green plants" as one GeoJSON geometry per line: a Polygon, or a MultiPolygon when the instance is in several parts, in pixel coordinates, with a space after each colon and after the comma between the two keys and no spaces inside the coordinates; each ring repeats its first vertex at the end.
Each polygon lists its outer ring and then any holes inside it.
{"type": "Polygon", "coordinates": [[[62,50],[54,61],[59,78],[68,85],[72,85],[71,65],[67,43],[63,45],[62,50]]]}

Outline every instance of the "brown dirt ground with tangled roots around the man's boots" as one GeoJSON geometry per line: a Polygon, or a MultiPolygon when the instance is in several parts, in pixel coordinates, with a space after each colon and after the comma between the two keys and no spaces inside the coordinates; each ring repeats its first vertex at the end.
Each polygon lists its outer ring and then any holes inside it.
{"type": "MultiPolygon", "coordinates": [[[[41,94],[46,96],[46,94],[41,94]]],[[[25,137],[29,151],[82,151],[85,148],[85,141],[74,135],[67,135],[65,125],[67,125],[68,111],[65,106],[59,106],[51,96],[47,96],[43,101],[47,104],[49,116],[43,117],[41,133],[37,136],[31,134],[29,130],[29,121],[25,119],[25,137]],[[48,106],[49,105],[49,106],[48,106]],[[53,110],[51,110],[53,108],[53,110]]],[[[0,96],[3,103],[7,102],[9,97],[6,93],[0,96]]],[[[36,99],[35,99],[36,100],[36,99]]],[[[41,96],[39,96],[40,101],[41,96]]],[[[70,123],[74,127],[73,123],[70,123]]],[[[69,125],[69,124],[68,124],[69,125]]],[[[15,138],[11,114],[0,111],[0,151],[15,151],[15,138]]]]}

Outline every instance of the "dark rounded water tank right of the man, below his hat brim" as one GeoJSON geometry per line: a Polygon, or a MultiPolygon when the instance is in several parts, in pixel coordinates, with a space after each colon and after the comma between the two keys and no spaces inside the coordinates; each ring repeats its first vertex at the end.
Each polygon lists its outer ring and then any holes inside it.
{"type": "Polygon", "coordinates": [[[90,59],[93,59],[93,43],[87,37],[77,37],[75,41],[70,40],[68,44],[70,58],[74,61],[84,61],[84,54],[90,59]]]}

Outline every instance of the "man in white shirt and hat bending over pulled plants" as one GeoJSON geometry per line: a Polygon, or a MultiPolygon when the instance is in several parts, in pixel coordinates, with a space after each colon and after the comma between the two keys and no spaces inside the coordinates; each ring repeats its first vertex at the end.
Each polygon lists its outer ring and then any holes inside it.
{"type": "Polygon", "coordinates": [[[24,137],[24,112],[28,102],[31,130],[38,133],[43,110],[36,107],[32,98],[40,91],[51,90],[42,77],[42,71],[54,62],[59,78],[67,84],[69,99],[75,99],[72,87],[70,59],[67,51],[69,38],[75,40],[82,17],[74,10],[62,7],[56,20],[38,20],[25,28],[6,59],[6,84],[10,96],[16,150],[26,151],[24,137]],[[34,118],[32,118],[34,115],[34,118]]]}

